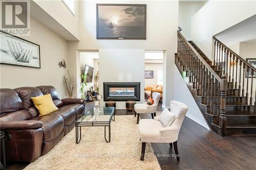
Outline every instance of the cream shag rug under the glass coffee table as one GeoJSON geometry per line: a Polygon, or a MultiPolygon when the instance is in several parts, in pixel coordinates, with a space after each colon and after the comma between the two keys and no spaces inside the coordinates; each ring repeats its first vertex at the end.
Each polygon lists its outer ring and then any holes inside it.
{"type": "Polygon", "coordinates": [[[81,141],[76,144],[73,128],[49,153],[25,169],[161,169],[150,143],[146,145],[144,161],[140,161],[137,117],[115,118],[110,143],[105,142],[104,127],[82,127],[81,141]]]}

